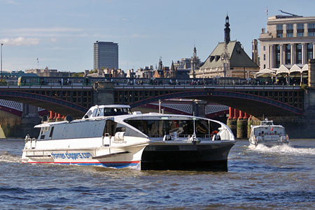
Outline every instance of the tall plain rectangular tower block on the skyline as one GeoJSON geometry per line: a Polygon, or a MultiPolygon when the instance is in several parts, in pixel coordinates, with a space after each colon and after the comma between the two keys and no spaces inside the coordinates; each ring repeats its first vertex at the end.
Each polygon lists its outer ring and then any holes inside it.
{"type": "Polygon", "coordinates": [[[94,69],[118,69],[118,43],[94,43],[94,69]]]}

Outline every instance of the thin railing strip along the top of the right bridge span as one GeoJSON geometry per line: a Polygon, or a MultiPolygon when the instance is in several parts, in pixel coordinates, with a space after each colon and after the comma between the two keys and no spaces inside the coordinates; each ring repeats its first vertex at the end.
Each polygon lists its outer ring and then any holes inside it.
{"type": "Polygon", "coordinates": [[[189,84],[181,84],[181,85],[152,85],[152,84],[115,84],[115,89],[301,89],[300,86],[295,85],[277,85],[277,84],[244,84],[244,85],[224,85],[224,84],[216,84],[216,85],[189,85],[189,84]]]}

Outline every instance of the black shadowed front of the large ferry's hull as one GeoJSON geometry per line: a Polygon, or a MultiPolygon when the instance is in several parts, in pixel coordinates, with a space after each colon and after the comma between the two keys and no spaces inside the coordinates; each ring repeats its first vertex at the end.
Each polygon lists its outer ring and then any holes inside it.
{"type": "Polygon", "coordinates": [[[149,145],[141,170],[228,171],[228,153],[234,142],[218,144],[149,145]]]}

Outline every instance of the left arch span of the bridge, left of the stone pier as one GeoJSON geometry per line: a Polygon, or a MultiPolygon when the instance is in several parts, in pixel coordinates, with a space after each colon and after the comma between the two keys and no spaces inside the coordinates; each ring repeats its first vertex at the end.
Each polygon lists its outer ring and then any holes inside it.
{"type": "Polygon", "coordinates": [[[0,86],[0,98],[82,117],[93,105],[92,87],[0,86]]]}

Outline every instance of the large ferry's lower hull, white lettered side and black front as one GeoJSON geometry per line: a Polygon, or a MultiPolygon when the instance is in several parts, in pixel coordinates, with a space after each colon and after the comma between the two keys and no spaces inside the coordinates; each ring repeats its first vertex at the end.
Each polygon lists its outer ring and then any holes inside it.
{"type": "Polygon", "coordinates": [[[230,142],[139,145],[108,153],[108,149],[34,150],[25,149],[25,163],[132,167],[141,170],[227,171],[230,142]],[[104,150],[104,151],[103,151],[104,150]],[[107,153],[102,155],[102,153],[107,153]]]}

